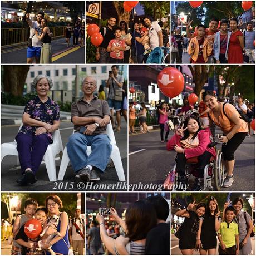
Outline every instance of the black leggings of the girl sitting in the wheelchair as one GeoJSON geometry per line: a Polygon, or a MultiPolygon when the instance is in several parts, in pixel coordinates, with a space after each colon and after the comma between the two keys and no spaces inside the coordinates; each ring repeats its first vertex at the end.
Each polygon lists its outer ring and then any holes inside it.
{"type": "MultiPolygon", "coordinates": [[[[203,155],[198,156],[198,174],[199,178],[204,177],[204,168],[209,163],[211,159],[211,154],[208,151],[205,151],[203,155]]],[[[186,165],[186,157],[183,153],[177,153],[176,159],[177,168],[176,171],[178,171],[180,176],[185,176],[185,165],[186,165]]]]}

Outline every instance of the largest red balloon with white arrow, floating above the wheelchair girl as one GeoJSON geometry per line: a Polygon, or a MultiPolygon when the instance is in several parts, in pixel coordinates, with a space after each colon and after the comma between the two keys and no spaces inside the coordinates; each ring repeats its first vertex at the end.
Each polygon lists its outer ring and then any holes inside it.
{"type": "Polygon", "coordinates": [[[157,76],[157,85],[165,96],[174,98],[183,91],[184,77],[176,68],[166,67],[157,76]]]}

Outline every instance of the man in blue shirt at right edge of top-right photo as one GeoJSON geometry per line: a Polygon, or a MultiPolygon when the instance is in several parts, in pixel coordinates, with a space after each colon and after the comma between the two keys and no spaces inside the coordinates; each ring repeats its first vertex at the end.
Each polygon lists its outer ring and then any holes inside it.
{"type": "Polygon", "coordinates": [[[255,47],[253,42],[255,40],[255,31],[253,31],[253,23],[247,23],[247,30],[243,32],[244,35],[244,46],[245,46],[245,55],[248,56],[247,63],[255,63],[255,47]]]}

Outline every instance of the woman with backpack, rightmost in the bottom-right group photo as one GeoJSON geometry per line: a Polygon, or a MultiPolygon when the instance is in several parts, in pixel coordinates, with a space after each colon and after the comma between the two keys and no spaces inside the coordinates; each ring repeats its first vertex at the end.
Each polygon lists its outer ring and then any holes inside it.
{"type": "MultiPolygon", "coordinates": [[[[223,216],[225,216],[225,209],[231,201],[224,204],[223,216]]],[[[232,203],[235,208],[235,223],[238,224],[239,229],[239,255],[249,255],[252,252],[252,242],[250,236],[254,236],[253,232],[253,221],[247,211],[243,211],[244,200],[242,198],[235,198],[232,203]]]]}

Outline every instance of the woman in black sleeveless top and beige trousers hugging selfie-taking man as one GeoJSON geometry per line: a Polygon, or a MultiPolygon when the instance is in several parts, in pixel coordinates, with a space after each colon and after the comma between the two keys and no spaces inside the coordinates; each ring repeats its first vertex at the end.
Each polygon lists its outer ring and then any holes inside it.
{"type": "Polygon", "coordinates": [[[38,32],[35,31],[35,34],[39,40],[42,40],[42,48],[40,55],[40,63],[47,64],[52,63],[52,46],[51,46],[51,37],[48,34],[51,34],[50,29],[48,28],[47,19],[43,18],[41,20],[42,33],[38,35],[38,32]]]}

